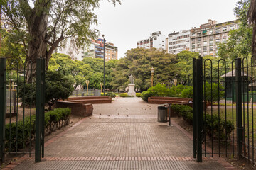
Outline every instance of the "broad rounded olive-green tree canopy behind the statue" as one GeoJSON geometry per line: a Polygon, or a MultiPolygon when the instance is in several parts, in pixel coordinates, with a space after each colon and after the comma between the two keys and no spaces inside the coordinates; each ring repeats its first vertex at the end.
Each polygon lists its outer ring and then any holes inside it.
{"type": "Polygon", "coordinates": [[[128,50],[126,57],[117,62],[116,69],[112,72],[111,85],[114,88],[124,89],[129,84],[128,76],[134,76],[134,84],[140,89],[151,86],[151,67],[154,67],[154,84],[168,84],[173,79],[178,69],[175,65],[176,55],[168,54],[156,49],[135,48],[128,50]]]}

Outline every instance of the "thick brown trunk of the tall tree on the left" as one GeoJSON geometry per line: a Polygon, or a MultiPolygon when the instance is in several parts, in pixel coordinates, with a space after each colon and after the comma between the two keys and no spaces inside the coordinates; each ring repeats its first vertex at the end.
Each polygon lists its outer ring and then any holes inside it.
{"type": "Polygon", "coordinates": [[[31,82],[33,77],[36,77],[36,59],[47,56],[47,23],[48,15],[41,14],[38,16],[36,13],[31,15],[28,22],[30,40],[28,41],[28,57],[26,58],[26,82],[31,82]]]}

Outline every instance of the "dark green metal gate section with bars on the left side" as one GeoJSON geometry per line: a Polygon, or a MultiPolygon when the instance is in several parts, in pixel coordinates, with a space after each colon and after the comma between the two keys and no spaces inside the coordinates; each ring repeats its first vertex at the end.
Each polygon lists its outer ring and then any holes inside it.
{"type": "Polygon", "coordinates": [[[36,60],[36,70],[31,65],[30,61],[7,62],[0,58],[1,162],[6,154],[22,154],[23,157],[34,154],[36,162],[44,156],[45,60],[36,60]],[[26,82],[33,72],[36,78],[26,82]]]}

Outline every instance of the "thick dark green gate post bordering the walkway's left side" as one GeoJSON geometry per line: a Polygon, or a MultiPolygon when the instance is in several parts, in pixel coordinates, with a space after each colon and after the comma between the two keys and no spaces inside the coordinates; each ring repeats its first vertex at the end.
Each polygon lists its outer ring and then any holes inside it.
{"type": "Polygon", "coordinates": [[[36,60],[36,148],[35,162],[41,162],[42,59],[36,60]]]}

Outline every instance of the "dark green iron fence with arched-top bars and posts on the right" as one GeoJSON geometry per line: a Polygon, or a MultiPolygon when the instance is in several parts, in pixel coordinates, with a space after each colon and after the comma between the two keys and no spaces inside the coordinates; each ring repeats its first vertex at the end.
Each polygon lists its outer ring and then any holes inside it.
{"type": "Polygon", "coordinates": [[[198,162],[202,156],[238,154],[255,163],[255,59],[215,64],[193,59],[193,152],[198,162]]]}

